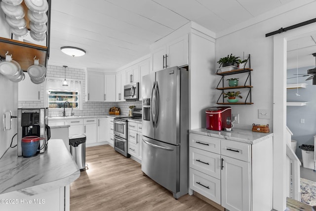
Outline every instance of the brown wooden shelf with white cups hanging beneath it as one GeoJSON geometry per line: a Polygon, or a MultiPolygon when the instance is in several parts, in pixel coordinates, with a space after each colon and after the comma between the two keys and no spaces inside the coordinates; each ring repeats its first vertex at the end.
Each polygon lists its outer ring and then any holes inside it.
{"type": "Polygon", "coordinates": [[[12,59],[19,63],[24,72],[27,72],[27,69],[34,64],[35,56],[36,59],[40,59],[39,63],[46,67],[46,46],[0,37],[0,57],[5,59],[7,51],[9,55],[12,54],[12,59]]]}

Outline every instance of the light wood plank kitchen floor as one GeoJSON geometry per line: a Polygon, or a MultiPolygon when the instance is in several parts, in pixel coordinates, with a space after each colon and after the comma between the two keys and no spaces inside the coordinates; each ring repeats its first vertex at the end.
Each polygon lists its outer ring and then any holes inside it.
{"type": "Polygon", "coordinates": [[[86,149],[88,169],[70,185],[71,211],[218,211],[196,196],[178,200],[109,145],[86,149]]]}

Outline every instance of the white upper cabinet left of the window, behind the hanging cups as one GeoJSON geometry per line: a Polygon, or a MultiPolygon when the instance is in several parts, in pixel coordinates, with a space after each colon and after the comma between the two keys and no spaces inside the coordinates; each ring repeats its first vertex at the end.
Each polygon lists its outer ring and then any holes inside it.
{"type": "Polygon", "coordinates": [[[31,82],[28,73],[25,73],[25,79],[18,83],[19,101],[40,101],[40,84],[31,82]]]}

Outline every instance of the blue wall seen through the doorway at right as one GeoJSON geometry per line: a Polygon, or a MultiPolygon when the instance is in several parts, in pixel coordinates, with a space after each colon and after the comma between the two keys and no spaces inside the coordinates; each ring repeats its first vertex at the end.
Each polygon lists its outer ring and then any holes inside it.
{"type": "MultiPolygon", "coordinates": [[[[299,74],[307,74],[307,70],[315,68],[299,68],[299,74]]],[[[287,70],[287,78],[295,77],[297,69],[287,70]]],[[[306,88],[287,89],[287,102],[309,102],[306,106],[287,106],[286,124],[292,131],[292,139],[297,140],[296,155],[302,160],[302,151],[298,147],[302,144],[314,144],[314,135],[316,135],[316,85],[313,80],[305,81],[309,76],[298,77],[297,79],[287,79],[287,84],[306,83],[306,88]],[[296,93],[300,96],[296,96],[296,93]],[[305,123],[300,123],[300,119],[305,119],[305,123]]],[[[274,114],[277,115],[277,114],[274,114]]]]}

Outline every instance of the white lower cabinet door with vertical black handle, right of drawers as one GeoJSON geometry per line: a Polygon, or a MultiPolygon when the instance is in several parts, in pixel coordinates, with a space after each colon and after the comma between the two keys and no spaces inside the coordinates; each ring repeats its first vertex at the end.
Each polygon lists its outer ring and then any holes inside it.
{"type": "Polygon", "coordinates": [[[250,211],[250,164],[221,156],[222,206],[230,211],[250,211]]]}

